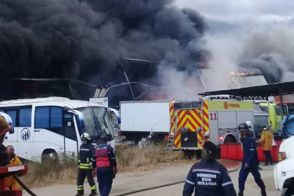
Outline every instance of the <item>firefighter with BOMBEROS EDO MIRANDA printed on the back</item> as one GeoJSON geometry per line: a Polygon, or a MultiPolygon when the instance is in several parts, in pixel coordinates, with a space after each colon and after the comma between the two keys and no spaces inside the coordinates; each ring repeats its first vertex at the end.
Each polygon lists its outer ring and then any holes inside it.
{"type": "Polygon", "coordinates": [[[204,143],[202,160],[192,166],[184,186],[183,196],[236,196],[227,170],[216,161],[217,147],[204,143]]]}

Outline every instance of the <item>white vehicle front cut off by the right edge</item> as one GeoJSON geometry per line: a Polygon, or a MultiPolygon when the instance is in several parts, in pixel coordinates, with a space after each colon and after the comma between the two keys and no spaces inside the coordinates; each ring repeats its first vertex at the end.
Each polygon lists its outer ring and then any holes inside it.
{"type": "Polygon", "coordinates": [[[279,163],[274,167],[274,184],[282,196],[294,195],[294,136],[282,142],[279,163]]]}

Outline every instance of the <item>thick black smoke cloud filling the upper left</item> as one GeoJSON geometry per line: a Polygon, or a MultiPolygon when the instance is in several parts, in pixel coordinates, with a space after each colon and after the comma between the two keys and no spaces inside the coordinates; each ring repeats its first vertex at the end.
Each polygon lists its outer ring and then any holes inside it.
{"type": "Polygon", "coordinates": [[[107,84],[125,57],[197,68],[205,26],[172,0],[1,0],[0,74],[107,84]]]}

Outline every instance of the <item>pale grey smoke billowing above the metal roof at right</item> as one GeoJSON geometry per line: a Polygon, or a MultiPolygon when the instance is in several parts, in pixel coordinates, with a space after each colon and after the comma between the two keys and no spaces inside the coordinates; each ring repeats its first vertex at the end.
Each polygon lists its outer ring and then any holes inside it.
{"type": "Polygon", "coordinates": [[[293,25],[285,23],[208,33],[205,48],[211,52],[210,67],[217,70],[214,84],[227,88],[229,72],[263,74],[268,83],[293,80],[293,34],[293,25]]]}

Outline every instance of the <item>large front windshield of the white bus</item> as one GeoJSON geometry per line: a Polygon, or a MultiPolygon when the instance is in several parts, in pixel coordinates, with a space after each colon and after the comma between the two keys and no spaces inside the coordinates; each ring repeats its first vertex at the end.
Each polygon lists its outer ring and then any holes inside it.
{"type": "MultiPolygon", "coordinates": [[[[101,134],[106,134],[108,140],[113,140],[111,125],[104,107],[78,108],[85,118],[85,131],[92,137],[92,141],[99,140],[101,134]]],[[[81,134],[81,133],[80,133],[81,134]]]]}

